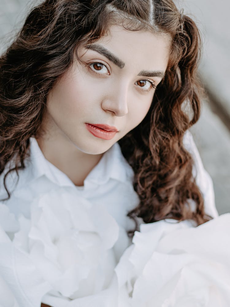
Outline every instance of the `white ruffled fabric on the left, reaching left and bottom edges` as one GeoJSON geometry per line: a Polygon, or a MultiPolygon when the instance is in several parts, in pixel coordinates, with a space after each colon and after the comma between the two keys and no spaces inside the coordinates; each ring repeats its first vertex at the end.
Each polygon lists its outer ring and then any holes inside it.
{"type": "Polygon", "coordinates": [[[3,306],[117,306],[114,268],[129,240],[105,206],[58,187],[33,200],[30,218],[5,204],[0,216],[3,306]]]}

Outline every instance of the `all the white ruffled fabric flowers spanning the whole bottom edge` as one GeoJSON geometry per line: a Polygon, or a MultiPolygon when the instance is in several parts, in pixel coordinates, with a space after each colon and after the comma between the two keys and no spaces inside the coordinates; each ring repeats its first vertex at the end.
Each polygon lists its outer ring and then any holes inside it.
{"type": "Polygon", "coordinates": [[[230,305],[230,214],[198,227],[141,224],[131,245],[103,205],[71,187],[34,199],[30,218],[2,203],[0,216],[0,306],[230,305]]]}

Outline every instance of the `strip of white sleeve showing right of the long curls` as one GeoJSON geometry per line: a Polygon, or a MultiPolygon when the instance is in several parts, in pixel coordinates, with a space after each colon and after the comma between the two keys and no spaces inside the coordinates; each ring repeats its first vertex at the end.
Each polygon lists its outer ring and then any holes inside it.
{"type": "Polygon", "coordinates": [[[194,143],[191,132],[188,130],[185,133],[183,143],[194,160],[193,176],[204,197],[205,213],[215,218],[218,216],[218,212],[215,205],[213,181],[209,173],[204,169],[197,146],[194,143]]]}

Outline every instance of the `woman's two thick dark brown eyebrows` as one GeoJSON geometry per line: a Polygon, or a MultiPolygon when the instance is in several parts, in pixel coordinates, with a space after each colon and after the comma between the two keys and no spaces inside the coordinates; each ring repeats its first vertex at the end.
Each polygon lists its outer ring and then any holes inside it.
{"type": "MultiPolygon", "coordinates": [[[[94,50],[103,56],[105,56],[108,60],[110,60],[114,65],[116,65],[119,68],[124,68],[125,67],[125,62],[120,60],[115,54],[113,54],[111,51],[103,47],[102,45],[99,44],[91,44],[87,45],[86,49],[91,49],[94,50]]],[[[137,76],[143,76],[143,77],[164,77],[164,72],[163,71],[148,71],[148,70],[142,70],[137,74],[137,76]]]]}

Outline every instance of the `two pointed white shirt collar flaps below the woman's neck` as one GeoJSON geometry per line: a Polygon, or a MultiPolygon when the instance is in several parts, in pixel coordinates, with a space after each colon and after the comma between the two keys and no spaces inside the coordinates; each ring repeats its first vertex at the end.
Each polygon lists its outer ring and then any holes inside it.
{"type": "MultiPolygon", "coordinates": [[[[30,157],[26,166],[32,180],[45,175],[57,185],[75,186],[66,174],[44,157],[35,138],[30,138],[30,157]]],[[[123,157],[119,144],[115,143],[88,174],[84,186],[87,188],[89,183],[102,185],[109,179],[127,183],[132,181],[132,177],[133,170],[123,157]]]]}

